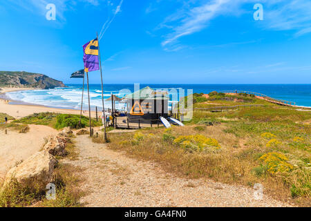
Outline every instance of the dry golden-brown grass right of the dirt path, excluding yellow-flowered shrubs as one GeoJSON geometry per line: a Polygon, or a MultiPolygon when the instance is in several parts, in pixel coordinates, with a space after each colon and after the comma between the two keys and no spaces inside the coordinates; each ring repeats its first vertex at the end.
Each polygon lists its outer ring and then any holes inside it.
{"type": "MultiPolygon", "coordinates": [[[[239,122],[241,123],[241,122],[239,122]]],[[[165,132],[162,128],[142,129],[134,134],[113,134],[110,135],[110,148],[125,150],[129,155],[142,160],[153,160],[159,162],[164,169],[187,177],[208,177],[218,182],[227,184],[243,184],[254,186],[256,183],[263,184],[265,193],[272,197],[287,202],[290,200],[299,205],[310,206],[310,172],[301,169],[291,173],[278,173],[270,175],[261,167],[259,157],[264,153],[278,150],[281,147],[267,148],[268,140],[261,137],[261,134],[254,131],[245,133],[245,128],[238,129],[240,124],[229,122],[209,126],[204,130],[198,130],[196,125],[185,127],[173,127],[172,131],[165,132]],[[233,126],[233,127],[232,127],[233,126]],[[234,133],[230,130],[236,128],[234,133]],[[240,134],[241,133],[241,134],[240,134]],[[220,151],[203,151],[188,153],[183,148],[172,144],[164,137],[178,137],[179,135],[205,135],[215,138],[220,143],[220,151]],[[299,171],[299,172],[297,172],[299,171]],[[293,185],[299,191],[294,193],[293,185]],[[309,187],[308,187],[309,185],[309,187]]],[[[252,126],[258,126],[256,123],[252,126]]],[[[248,128],[247,128],[248,129],[248,128]]],[[[276,133],[279,137],[288,131],[276,133]]],[[[267,130],[265,126],[265,130],[267,130]]],[[[308,131],[308,129],[307,129],[308,131]]],[[[310,152],[296,153],[296,149],[283,144],[281,149],[290,152],[297,159],[298,154],[306,154],[305,159],[310,159],[310,152]]]]}

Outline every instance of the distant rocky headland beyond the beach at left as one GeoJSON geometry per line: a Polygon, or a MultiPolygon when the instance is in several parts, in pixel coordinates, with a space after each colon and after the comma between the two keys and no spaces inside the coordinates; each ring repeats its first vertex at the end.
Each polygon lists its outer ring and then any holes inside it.
{"type": "Polygon", "coordinates": [[[17,86],[28,88],[64,87],[62,81],[57,81],[46,75],[20,71],[0,71],[0,86],[17,86]]]}

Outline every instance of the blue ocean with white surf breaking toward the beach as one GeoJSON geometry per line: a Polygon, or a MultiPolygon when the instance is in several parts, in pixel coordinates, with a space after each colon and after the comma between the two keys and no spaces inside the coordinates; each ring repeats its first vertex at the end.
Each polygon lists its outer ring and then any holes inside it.
{"type": "MultiPolygon", "coordinates": [[[[56,108],[79,109],[81,106],[82,84],[68,84],[68,88],[55,88],[48,90],[23,90],[6,93],[15,102],[39,104],[56,108]]],[[[193,93],[210,93],[211,91],[242,90],[262,93],[274,99],[283,99],[296,102],[298,106],[311,106],[311,84],[140,84],[140,89],[150,86],[153,89],[177,91],[177,96],[172,95],[172,102],[177,102],[182,96],[182,90],[193,90],[193,93]],[[172,90],[176,89],[176,90],[172,90]]],[[[87,88],[84,86],[84,110],[88,108],[87,88]]],[[[105,84],[104,99],[113,95],[124,97],[133,93],[133,84],[105,84]]],[[[191,92],[191,91],[189,91],[191,92]]],[[[91,108],[102,107],[102,87],[100,84],[90,85],[91,108]]],[[[105,101],[105,108],[111,108],[111,101],[105,101]]],[[[124,110],[125,104],[116,102],[118,110],[124,110]]]]}

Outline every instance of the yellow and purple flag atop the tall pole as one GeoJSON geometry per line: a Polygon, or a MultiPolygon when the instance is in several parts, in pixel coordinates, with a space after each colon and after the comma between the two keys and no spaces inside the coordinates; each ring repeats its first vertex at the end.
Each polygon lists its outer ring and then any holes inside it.
{"type": "Polygon", "coordinates": [[[90,72],[100,70],[100,62],[98,59],[98,40],[97,38],[89,41],[83,46],[84,71],[90,72]]]}

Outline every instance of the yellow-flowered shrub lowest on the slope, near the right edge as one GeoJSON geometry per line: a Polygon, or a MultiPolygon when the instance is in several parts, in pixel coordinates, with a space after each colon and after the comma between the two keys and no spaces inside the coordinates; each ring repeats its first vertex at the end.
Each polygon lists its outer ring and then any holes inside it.
{"type": "Polygon", "coordinates": [[[259,160],[265,163],[267,166],[267,172],[270,174],[289,172],[294,168],[292,164],[287,162],[288,157],[282,153],[265,153],[259,158],[259,160]]]}

